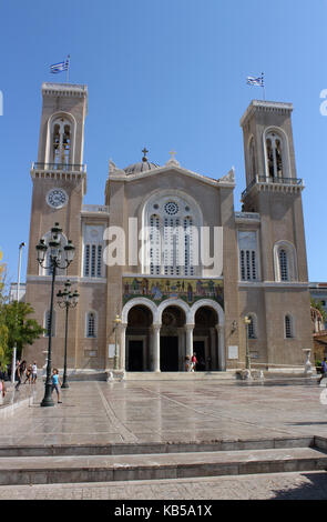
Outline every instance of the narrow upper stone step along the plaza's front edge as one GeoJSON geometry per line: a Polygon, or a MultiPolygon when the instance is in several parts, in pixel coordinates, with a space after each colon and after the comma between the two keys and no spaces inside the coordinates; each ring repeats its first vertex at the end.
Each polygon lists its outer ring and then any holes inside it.
{"type": "MultiPolygon", "coordinates": [[[[0,446],[2,456],[79,456],[139,455],[152,453],[197,453],[237,450],[272,450],[321,446],[325,439],[313,436],[279,436],[275,439],[216,440],[196,442],[137,442],[113,444],[51,444],[0,446]]],[[[327,443],[326,443],[327,449],[327,443]]]]}

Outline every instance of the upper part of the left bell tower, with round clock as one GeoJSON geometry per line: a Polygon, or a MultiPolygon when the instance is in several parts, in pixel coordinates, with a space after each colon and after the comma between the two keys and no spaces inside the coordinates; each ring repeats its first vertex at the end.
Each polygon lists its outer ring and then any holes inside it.
{"type": "Polygon", "coordinates": [[[43,83],[42,98],[38,161],[31,169],[33,195],[28,277],[40,275],[35,244],[54,222],[60,223],[76,248],[70,274],[79,275],[80,213],[86,191],[83,149],[88,89],[78,84],[43,83]]]}

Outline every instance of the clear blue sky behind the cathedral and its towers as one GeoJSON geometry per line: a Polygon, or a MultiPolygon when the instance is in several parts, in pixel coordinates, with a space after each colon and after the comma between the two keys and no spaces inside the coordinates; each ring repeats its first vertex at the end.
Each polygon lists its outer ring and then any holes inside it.
{"type": "MultiPolygon", "coordinates": [[[[16,280],[18,245],[29,240],[41,117],[41,84],[64,81],[49,66],[71,54],[70,81],[89,89],[88,194],[103,203],[110,158],[140,161],[144,145],[190,170],[221,178],[235,165],[235,210],[245,188],[239,118],[262,90],[293,102],[310,281],[326,281],[327,89],[325,0],[30,0],[0,4],[0,248],[16,280]]],[[[22,280],[25,275],[23,253],[22,280]]]]}

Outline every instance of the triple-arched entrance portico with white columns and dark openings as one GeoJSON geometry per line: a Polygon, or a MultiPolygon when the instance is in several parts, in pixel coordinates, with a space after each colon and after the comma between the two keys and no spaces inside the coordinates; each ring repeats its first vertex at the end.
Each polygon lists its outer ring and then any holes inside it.
{"type": "Polygon", "coordinates": [[[178,372],[185,357],[198,350],[197,371],[224,371],[224,311],[214,300],[190,307],[182,299],[156,305],[147,298],[131,299],[122,310],[119,332],[120,368],[127,372],[178,372]]]}

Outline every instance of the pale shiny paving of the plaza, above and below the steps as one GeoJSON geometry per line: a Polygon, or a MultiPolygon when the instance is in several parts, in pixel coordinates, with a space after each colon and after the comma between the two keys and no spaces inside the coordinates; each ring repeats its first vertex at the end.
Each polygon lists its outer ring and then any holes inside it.
{"type": "MultiPolygon", "coordinates": [[[[315,379],[72,382],[62,404],[33,401],[1,420],[0,445],[111,444],[327,436],[315,379]]],[[[0,499],[327,498],[325,472],[0,486],[0,499]]]]}

